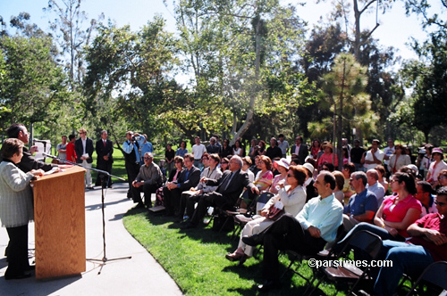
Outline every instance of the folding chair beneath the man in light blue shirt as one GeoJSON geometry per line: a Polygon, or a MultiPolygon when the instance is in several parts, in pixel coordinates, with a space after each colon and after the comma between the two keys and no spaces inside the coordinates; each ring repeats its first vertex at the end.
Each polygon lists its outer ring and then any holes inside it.
{"type": "MultiPolygon", "coordinates": [[[[343,228],[343,225],[341,225],[337,228],[337,236],[335,237],[334,243],[337,243],[338,241],[342,240],[342,238],[344,237],[344,234],[345,234],[344,228],[343,228]]],[[[308,287],[311,284],[313,284],[315,281],[316,270],[312,268],[312,272],[314,275],[314,276],[312,276],[312,278],[308,278],[305,275],[300,274],[298,269],[301,266],[303,260],[308,260],[308,259],[333,260],[333,259],[337,259],[337,254],[335,254],[335,252],[333,250],[328,250],[328,249],[320,251],[317,254],[299,254],[296,251],[291,251],[291,250],[286,250],[285,252],[289,255],[289,259],[291,260],[291,263],[286,268],[283,275],[281,275],[281,278],[283,278],[287,274],[287,272],[289,270],[291,270],[295,275],[299,275],[302,279],[304,279],[308,283],[308,287]],[[291,266],[295,262],[297,262],[299,264],[298,264],[298,267],[293,269],[291,266]]],[[[306,290],[306,292],[307,292],[307,290],[306,290]]]]}

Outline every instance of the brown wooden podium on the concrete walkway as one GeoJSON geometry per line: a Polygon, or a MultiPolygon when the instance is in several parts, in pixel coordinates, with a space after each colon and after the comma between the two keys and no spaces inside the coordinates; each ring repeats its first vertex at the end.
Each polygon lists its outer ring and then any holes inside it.
{"type": "Polygon", "coordinates": [[[33,182],[38,279],[86,270],[84,172],[72,167],[33,182]]]}

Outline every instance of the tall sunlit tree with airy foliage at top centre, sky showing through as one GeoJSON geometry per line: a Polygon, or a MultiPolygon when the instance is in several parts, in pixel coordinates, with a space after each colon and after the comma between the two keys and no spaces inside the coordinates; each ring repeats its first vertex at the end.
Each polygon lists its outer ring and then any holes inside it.
{"type": "Polygon", "coordinates": [[[307,82],[293,70],[303,45],[293,7],[181,1],[176,15],[181,50],[195,74],[191,93],[213,108],[225,107],[219,121],[232,122],[232,143],[249,130],[255,114],[271,114],[287,100],[300,102],[307,82]]]}

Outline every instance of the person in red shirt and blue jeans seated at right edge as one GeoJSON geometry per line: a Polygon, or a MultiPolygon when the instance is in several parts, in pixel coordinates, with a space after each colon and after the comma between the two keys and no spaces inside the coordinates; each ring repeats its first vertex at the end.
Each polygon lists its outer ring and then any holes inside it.
{"type": "Polygon", "coordinates": [[[411,224],[407,243],[384,241],[384,259],[392,267],[381,267],[375,279],[374,291],[378,295],[395,295],[403,274],[417,278],[435,261],[447,261],[447,187],[436,196],[438,213],[428,214],[411,224]]]}

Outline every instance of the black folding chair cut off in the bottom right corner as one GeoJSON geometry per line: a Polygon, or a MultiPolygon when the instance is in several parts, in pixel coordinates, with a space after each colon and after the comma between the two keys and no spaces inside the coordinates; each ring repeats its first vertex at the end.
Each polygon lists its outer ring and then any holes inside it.
{"type": "MultiPolygon", "coordinates": [[[[407,296],[413,295],[417,292],[416,288],[422,282],[428,283],[440,287],[443,290],[447,290],[447,262],[438,261],[430,264],[421,275],[417,278],[417,281],[409,290],[407,296]]],[[[426,295],[427,292],[418,293],[419,295],[426,295]]]]}

